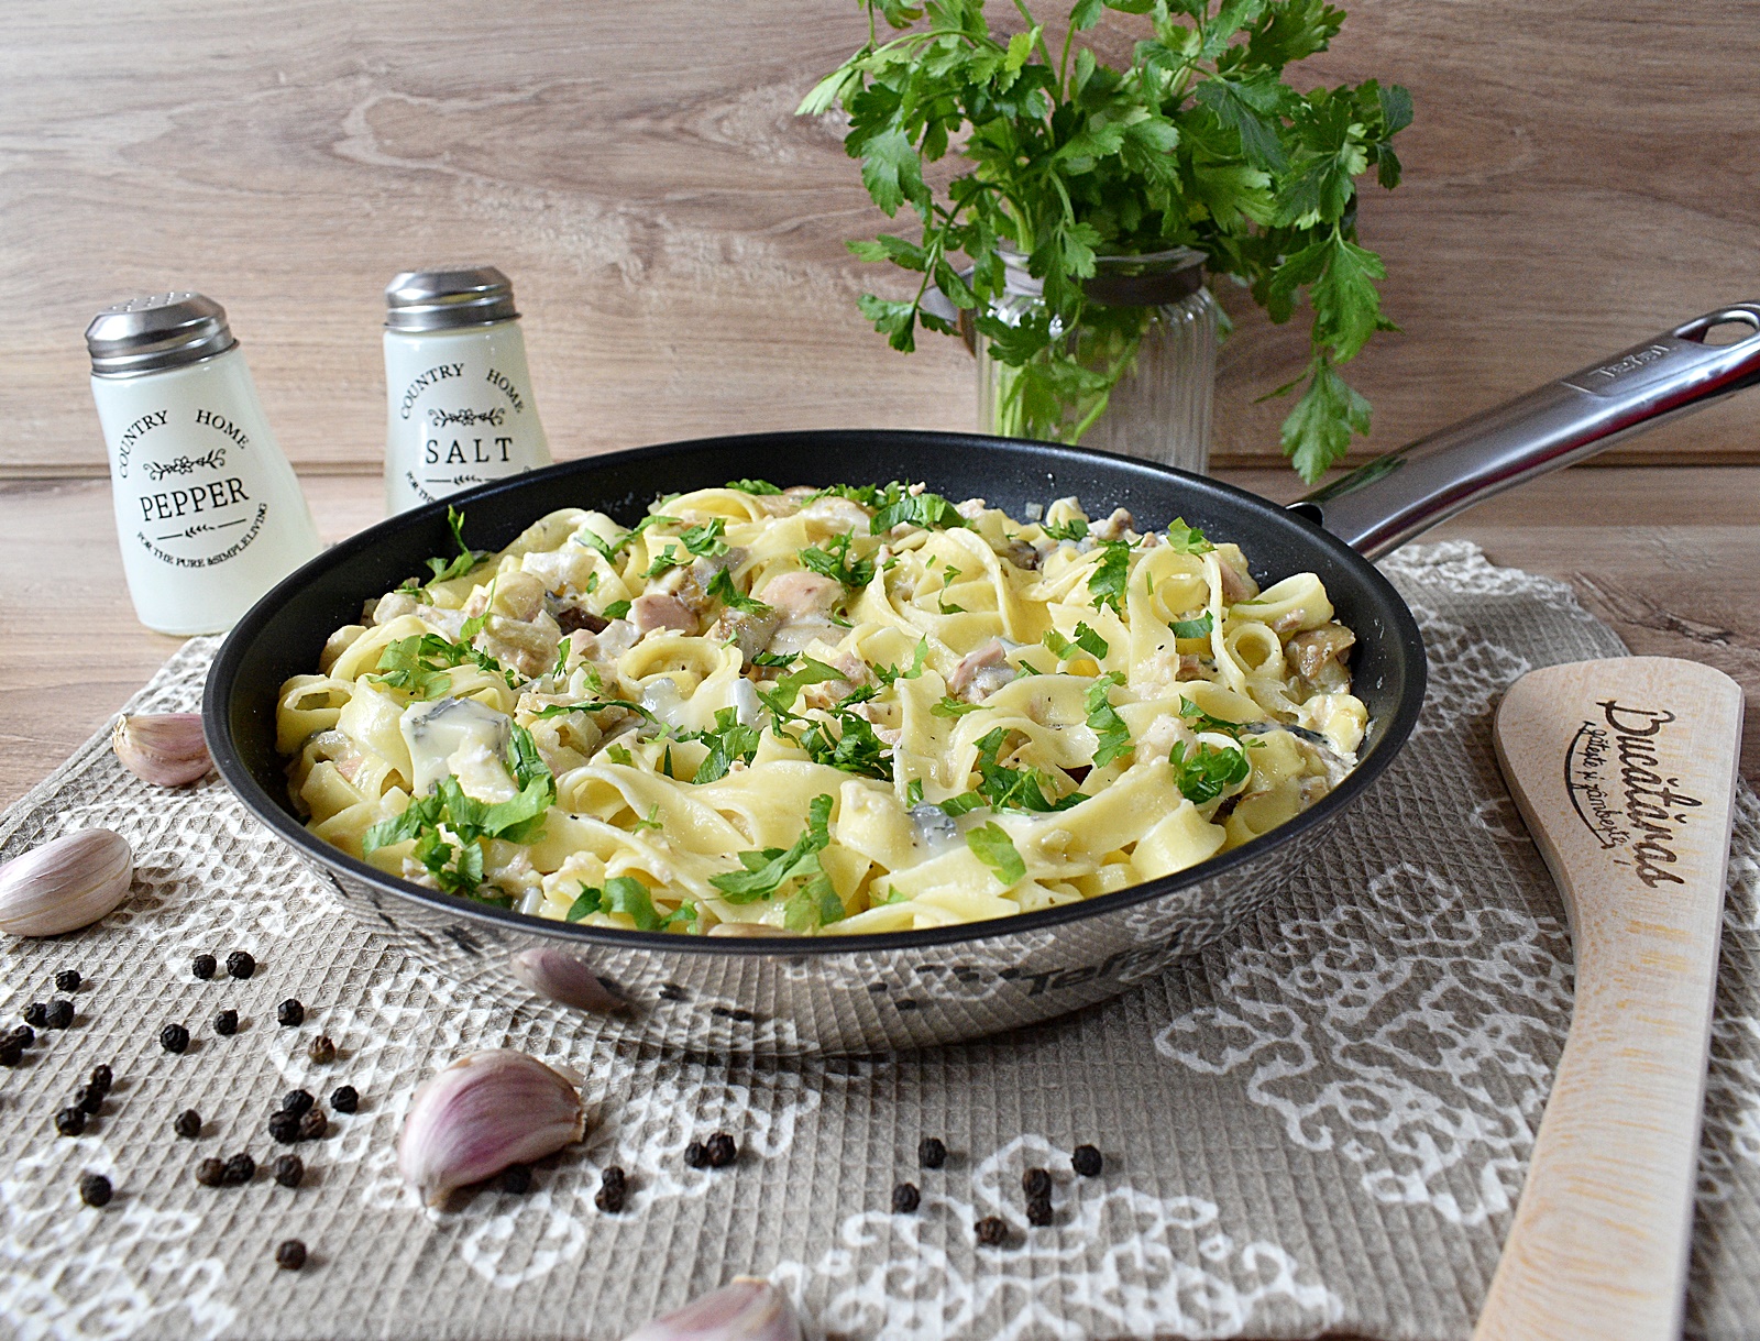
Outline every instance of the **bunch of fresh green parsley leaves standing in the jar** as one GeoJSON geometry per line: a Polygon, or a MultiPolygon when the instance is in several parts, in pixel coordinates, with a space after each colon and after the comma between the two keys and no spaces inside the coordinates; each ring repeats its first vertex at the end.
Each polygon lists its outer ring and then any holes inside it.
{"type": "MultiPolygon", "coordinates": [[[[1412,95],[1368,79],[1297,93],[1290,65],[1325,51],[1345,12],[1325,0],[1079,0],[1052,56],[1024,0],[1021,28],[991,32],[984,0],[862,0],[868,42],[799,111],[841,106],[845,150],[889,216],[910,206],[920,236],[850,243],[864,260],[920,275],[908,301],[864,294],[862,313],[894,348],[915,329],[949,333],[924,308],[929,285],[972,311],[994,359],[1017,371],[1008,426],[1075,442],[1135,359],[1146,313],[1089,304],[1100,255],[1190,246],[1250,285],[1274,322],[1306,296],[1311,355],[1283,451],[1308,480],[1369,431],[1369,403],[1339,375],[1376,331],[1382,260],[1357,241],[1357,178],[1399,183],[1392,137],[1412,95]],[[1079,35],[1114,9],[1149,19],[1125,69],[1079,35]],[[884,18],[901,35],[882,40],[884,18]],[[922,23],[926,18],[926,23],[922,23]],[[922,26],[917,26],[922,23],[922,26]],[[935,190],[924,165],[968,164],[935,190]],[[1016,324],[991,311],[1003,250],[1026,257],[1044,306],[1016,324]],[[970,282],[956,264],[973,264],[970,282]]],[[[1056,33],[1052,33],[1056,37],[1056,33]]]]}

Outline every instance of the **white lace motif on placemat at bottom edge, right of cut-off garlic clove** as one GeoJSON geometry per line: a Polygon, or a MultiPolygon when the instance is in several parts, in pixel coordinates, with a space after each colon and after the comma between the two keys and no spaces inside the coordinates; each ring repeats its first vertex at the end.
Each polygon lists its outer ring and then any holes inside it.
{"type": "Polygon", "coordinates": [[[771,1279],[832,1336],[1308,1336],[1341,1316],[1311,1271],[1274,1242],[1239,1241],[1202,1197],[1052,1174],[1060,1218],[1030,1228],[1021,1174],[1067,1158],[1040,1135],[1016,1137],[972,1170],[964,1197],[926,1191],[915,1214],[852,1214],[834,1248],[811,1264],[781,1262],[771,1279]],[[982,1216],[1008,1223],[1007,1248],[973,1244],[982,1216]]]}

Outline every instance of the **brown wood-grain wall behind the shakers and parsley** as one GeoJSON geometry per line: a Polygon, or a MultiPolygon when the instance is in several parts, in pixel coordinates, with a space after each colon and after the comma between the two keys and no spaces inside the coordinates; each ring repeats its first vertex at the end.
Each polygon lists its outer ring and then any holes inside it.
{"type": "MultiPolygon", "coordinates": [[[[1751,0],[1346,7],[1311,81],[1417,100],[1408,181],[1362,209],[1404,327],[1357,364],[1373,451],[1760,296],[1751,0]]],[[[297,463],[377,470],[380,290],[451,257],[514,276],[560,456],[970,426],[961,347],[905,359],[857,315],[898,285],[841,241],[882,220],[836,127],[792,116],[861,32],[843,0],[12,0],[0,475],[102,472],[81,331],[164,287],[225,303],[297,463]]],[[[1283,407],[1253,399],[1302,338],[1228,306],[1216,458],[1264,463],[1283,407]]],[[[1753,415],[1619,456],[1760,461],[1753,415]]]]}

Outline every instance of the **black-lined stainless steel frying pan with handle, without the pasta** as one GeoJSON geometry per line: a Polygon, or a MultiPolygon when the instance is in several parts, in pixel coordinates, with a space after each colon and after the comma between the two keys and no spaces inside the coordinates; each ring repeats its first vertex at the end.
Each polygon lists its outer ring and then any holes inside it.
{"type": "Polygon", "coordinates": [[[780,484],[926,480],[1021,516],[1079,495],[1139,530],[1176,516],[1236,540],[1262,583],[1315,572],[1355,630],[1369,709],[1360,764],[1311,810],[1177,875],[1044,912],[868,936],[678,936],[526,917],[387,876],[313,838],[275,751],[282,681],[319,662],[361,602],[451,551],[445,505],[371,526],[294,572],[236,625],[208,676],[220,776],[370,927],[484,993],[605,1012],[642,1042],[774,1054],[922,1047],[1033,1024],[1158,975],[1253,913],[1331,824],[1375,787],[1424,702],[1417,623],[1371,560],[1443,517],[1760,380],[1760,303],[1720,308],[1508,405],[1412,443],[1288,509],[1130,458],[968,433],[810,431],[614,452],[472,489],[466,539],[512,542],[539,516],[593,507],[634,524],[656,495],[760,477],[780,484]],[[1716,343],[1711,333],[1739,333],[1716,343]]]}

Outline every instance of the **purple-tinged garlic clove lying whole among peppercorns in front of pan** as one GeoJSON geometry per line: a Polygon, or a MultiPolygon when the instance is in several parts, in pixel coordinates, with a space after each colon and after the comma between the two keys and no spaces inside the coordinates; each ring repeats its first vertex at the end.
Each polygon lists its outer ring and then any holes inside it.
{"type": "Polygon", "coordinates": [[[398,1172],[428,1205],[510,1163],[579,1140],[581,1095],[568,1077],[510,1047],[472,1052],[431,1075],[410,1103],[398,1172]]]}

